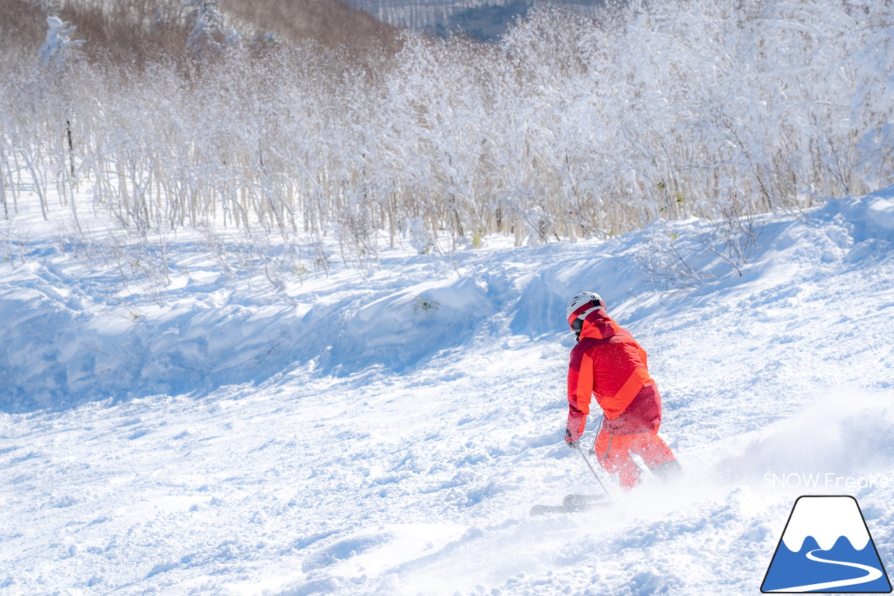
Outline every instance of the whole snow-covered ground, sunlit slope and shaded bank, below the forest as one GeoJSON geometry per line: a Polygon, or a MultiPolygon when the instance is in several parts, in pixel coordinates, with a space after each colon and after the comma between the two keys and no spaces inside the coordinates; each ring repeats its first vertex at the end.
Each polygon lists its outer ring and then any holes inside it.
{"type": "Polygon", "coordinates": [[[803,494],[856,497],[892,569],[891,205],[768,216],[687,291],[645,281],[649,230],[274,290],[198,233],[125,285],[99,220],[2,221],[0,592],[756,594],[803,494]],[[599,490],[562,442],[579,290],[649,353],[686,475],[530,517],[599,490]]]}

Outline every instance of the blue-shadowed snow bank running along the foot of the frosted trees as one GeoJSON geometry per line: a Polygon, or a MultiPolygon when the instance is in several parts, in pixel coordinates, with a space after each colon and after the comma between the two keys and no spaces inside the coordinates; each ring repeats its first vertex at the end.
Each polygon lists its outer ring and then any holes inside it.
{"type": "MultiPolygon", "coordinates": [[[[883,255],[871,244],[886,233],[892,193],[830,200],[818,214],[827,231],[817,243],[822,260],[883,255]]],[[[672,235],[702,237],[699,226],[678,223],[672,235]]],[[[383,251],[380,270],[367,280],[340,270],[292,279],[279,293],[260,290],[269,285],[261,276],[236,275],[203,258],[206,244],[188,234],[164,243],[190,267],[172,268],[152,285],[122,282],[120,262],[84,267],[84,257],[64,251],[47,229],[49,237],[30,241],[21,257],[7,260],[11,267],[18,260],[18,267],[7,268],[0,289],[0,370],[6,379],[0,408],[201,395],[301,367],[335,375],[410,370],[475,338],[560,333],[567,296],[585,287],[597,288],[612,312],[628,320],[648,317],[681,303],[656,292],[673,284],[644,286],[642,253],[662,250],[650,239],[670,234],[665,228],[656,224],[611,243],[461,251],[453,262],[383,251]],[[516,261],[521,254],[525,262],[516,261]]],[[[768,236],[783,235],[775,242],[780,250],[786,239],[802,242],[787,236],[785,226],[767,228],[768,236]]],[[[697,288],[696,296],[711,295],[730,268],[690,244],[690,261],[705,279],[715,280],[697,288]]],[[[678,272],[671,267],[665,273],[678,272]]]]}

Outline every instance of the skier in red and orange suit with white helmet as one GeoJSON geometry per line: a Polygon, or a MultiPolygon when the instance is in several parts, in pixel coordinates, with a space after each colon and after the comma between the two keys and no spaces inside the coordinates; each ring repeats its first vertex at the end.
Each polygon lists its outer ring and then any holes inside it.
{"type": "Polygon", "coordinates": [[[645,350],[627,329],[609,318],[599,294],[580,292],[569,302],[568,322],[578,338],[568,370],[568,424],[565,442],[578,447],[590,413],[590,399],[603,409],[595,456],[608,473],[618,474],[621,487],[637,486],[634,453],[656,476],[669,479],[682,469],[662,438],[662,398],[649,377],[645,350]]]}

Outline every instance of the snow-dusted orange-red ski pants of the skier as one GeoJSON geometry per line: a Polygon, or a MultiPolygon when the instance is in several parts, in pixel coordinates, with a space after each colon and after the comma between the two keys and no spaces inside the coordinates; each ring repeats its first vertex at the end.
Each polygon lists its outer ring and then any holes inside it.
{"type": "Polygon", "coordinates": [[[596,457],[599,464],[611,474],[618,474],[620,485],[630,490],[637,486],[639,468],[631,453],[643,458],[650,468],[677,459],[671,447],[658,436],[658,430],[636,435],[611,435],[604,429],[596,437],[596,457]]]}

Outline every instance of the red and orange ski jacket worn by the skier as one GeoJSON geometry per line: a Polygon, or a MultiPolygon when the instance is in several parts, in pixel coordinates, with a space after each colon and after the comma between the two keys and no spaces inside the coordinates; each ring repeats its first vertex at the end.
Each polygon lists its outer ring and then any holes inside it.
{"type": "Polygon", "coordinates": [[[645,350],[604,309],[584,319],[568,370],[568,430],[579,438],[590,400],[603,409],[603,429],[629,435],[657,431],[662,421],[658,387],[649,376],[645,350]]]}

